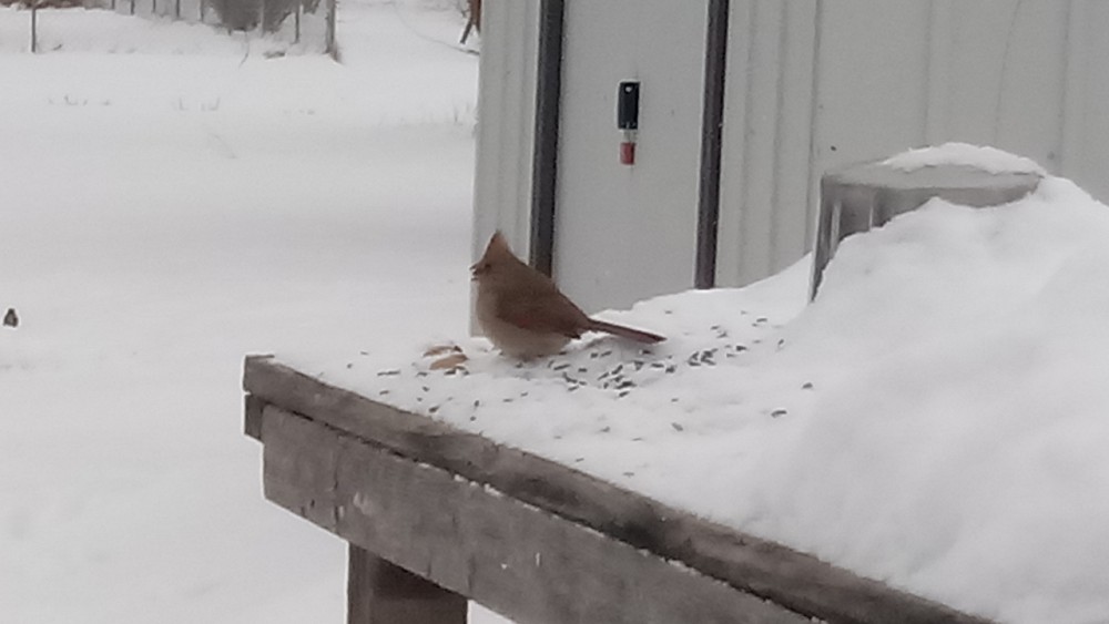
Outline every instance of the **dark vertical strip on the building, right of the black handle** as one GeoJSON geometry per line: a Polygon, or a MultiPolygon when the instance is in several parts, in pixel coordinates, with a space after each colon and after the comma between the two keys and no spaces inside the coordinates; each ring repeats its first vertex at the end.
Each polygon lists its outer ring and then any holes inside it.
{"type": "Polygon", "coordinates": [[[693,284],[716,284],[720,233],[720,162],[724,124],[724,81],[728,69],[729,0],[709,0],[704,42],[701,171],[698,185],[696,255],[693,284]]]}

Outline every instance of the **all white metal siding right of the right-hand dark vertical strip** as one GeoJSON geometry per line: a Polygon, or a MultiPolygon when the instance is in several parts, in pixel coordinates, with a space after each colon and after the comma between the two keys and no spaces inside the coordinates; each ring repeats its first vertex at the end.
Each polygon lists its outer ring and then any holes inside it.
{"type": "Polygon", "coordinates": [[[721,285],[811,247],[822,172],[909,147],[996,145],[1109,198],[1109,2],[733,0],[730,25],[721,285]]]}

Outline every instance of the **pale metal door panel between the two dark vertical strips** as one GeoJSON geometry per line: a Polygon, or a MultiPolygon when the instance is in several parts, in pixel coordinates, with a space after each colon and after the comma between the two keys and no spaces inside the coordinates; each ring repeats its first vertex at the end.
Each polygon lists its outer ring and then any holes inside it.
{"type": "Polygon", "coordinates": [[[569,0],[554,277],[587,311],[690,288],[708,2],[569,0]],[[637,163],[617,85],[639,80],[637,163]]]}

